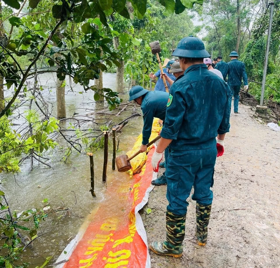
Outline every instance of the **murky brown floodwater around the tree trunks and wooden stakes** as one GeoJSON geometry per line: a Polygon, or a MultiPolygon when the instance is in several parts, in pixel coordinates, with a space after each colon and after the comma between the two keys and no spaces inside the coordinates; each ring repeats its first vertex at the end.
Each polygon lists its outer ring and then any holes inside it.
{"type": "MultiPolygon", "coordinates": [[[[43,96],[52,107],[53,115],[56,113],[55,103],[55,81],[53,74],[44,74],[39,76],[39,86],[43,86],[43,96]]],[[[66,80],[69,85],[69,79],[66,80]]],[[[115,74],[103,74],[103,86],[115,89],[115,74]]],[[[72,84],[74,92],[70,86],[66,86],[66,109],[67,117],[73,116],[74,112],[79,115],[85,115],[91,112],[89,109],[95,109],[97,104],[93,101],[94,92],[83,91],[80,85],[72,84]],[[87,110],[88,109],[88,110],[87,110]]],[[[125,88],[128,91],[128,88],[125,88]]],[[[120,94],[120,97],[126,102],[128,95],[120,94]]],[[[20,112],[28,107],[20,108],[20,112]]],[[[119,111],[119,110],[118,110],[119,111]]],[[[118,112],[117,111],[117,112],[118,112]]],[[[113,112],[115,113],[115,112],[113,112]]],[[[113,118],[113,122],[120,122],[122,119],[132,114],[127,110],[120,116],[113,118]]],[[[92,115],[94,118],[104,117],[103,115],[92,115]]],[[[113,117],[113,115],[111,116],[113,117]]],[[[14,123],[20,123],[21,119],[15,120],[14,123]]],[[[125,154],[132,148],[136,137],[141,133],[143,120],[141,117],[135,117],[129,120],[129,123],[122,129],[119,136],[119,151],[117,155],[125,154]]],[[[88,127],[93,127],[88,125],[88,127]]],[[[15,126],[16,128],[16,126],[15,126]]],[[[119,134],[118,134],[119,135],[119,134]]],[[[109,138],[110,140],[110,138],[109,138]]],[[[117,141],[118,142],[118,141],[117,141]]],[[[54,263],[57,257],[64,250],[65,246],[78,233],[79,229],[86,222],[86,219],[94,218],[94,211],[98,204],[104,199],[110,199],[117,192],[107,192],[106,185],[102,183],[103,169],[103,149],[94,154],[94,171],[95,171],[95,194],[96,198],[91,196],[90,190],[90,164],[89,157],[82,152],[81,154],[73,153],[70,156],[70,162],[60,161],[65,154],[64,149],[57,146],[50,152],[50,160],[47,161],[52,168],[40,164],[34,160],[34,167],[30,171],[29,159],[21,166],[21,172],[18,174],[0,174],[1,190],[6,193],[12,210],[26,210],[32,208],[42,208],[46,204],[43,199],[48,199],[51,208],[69,208],[66,213],[63,211],[49,213],[44,222],[41,222],[38,230],[38,239],[33,245],[24,252],[24,262],[30,262],[30,267],[36,267],[42,264],[46,257],[53,256],[50,263],[54,263]],[[34,257],[38,256],[39,257],[34,257]],[[33,256],[33,257],[30,257],[33,256]]],[[[116,185],[119,189],[128,189],[131,183],[129,175],[118,173],[111,170],[112,150],[109,145],[108,166],[107,166],[107,186],[116,185]]],[[[113,199],[114,200],[114,199],[113,199]]],[[[125,207],[126,204],[123,204],[125,207]]],[[[120,206],[114,206],[112,203],[112,214],[121,213],[120,206]],[[118,207],[118,209],[116,209],[118,207]]],[[[96,219],[100,220],[100,219],[96,219]]],[[[85,227],[85,224],[84,224],[85,227]]]]}

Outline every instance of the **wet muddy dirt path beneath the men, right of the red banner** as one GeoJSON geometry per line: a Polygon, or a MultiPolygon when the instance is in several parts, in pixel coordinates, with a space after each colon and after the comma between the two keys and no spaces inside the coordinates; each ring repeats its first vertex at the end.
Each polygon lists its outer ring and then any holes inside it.
{"type": "MultiPolygon", "coordinates": [[[[189,197],[183,257],[150,251],[151,267],[280,268],[280,132],[255,119],[248,106],[239,112],[231,115],[225,153],[216,162],[206,246],[196,244],[195,201],[189,197]]],[[[165,237],[165,194],[166,185],[155,186],[142,211],[149,243],[165,237]]]]}

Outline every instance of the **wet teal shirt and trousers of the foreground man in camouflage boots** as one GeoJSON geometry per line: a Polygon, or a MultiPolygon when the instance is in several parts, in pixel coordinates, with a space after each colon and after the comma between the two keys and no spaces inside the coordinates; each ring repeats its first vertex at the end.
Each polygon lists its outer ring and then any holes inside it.
{"type": "Polygon", "coordinates": [[[185,70],[171,87],[161,136],[171,139],[167,162],[167,210],[184,215],[193,200],[212,203],[216,136],[229,132],[230,88],[205,64],[185,70]]]}

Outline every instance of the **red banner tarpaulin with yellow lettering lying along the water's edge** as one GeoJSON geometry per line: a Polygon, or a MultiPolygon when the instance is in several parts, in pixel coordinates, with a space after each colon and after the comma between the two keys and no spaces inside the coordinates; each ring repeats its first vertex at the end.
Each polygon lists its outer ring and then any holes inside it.
{"type": "MultiPolygon", "coordinates": [[[[157,130],[158,127],[154,126],[152,139],[158,135],[157,130]]],[[[129,191],[118,191],[115,185],[111,186],[112,189],[108,187],[107,192],[114,191],[116,194],[99,204],[89,225],[69,243],[56,263],[69,261],[58,264],[56,268],[150,267],[146,231],[138,213],[147,203],[153,189],[150,183],[157,176],[151,166],[155,147],[150,150],[141,172],[133,176],[129,191]],[[113,207],[123,203],[128,209],[114,213],[113,207]],[[110,206],[111,209],[108,209],[110,206]]]]}

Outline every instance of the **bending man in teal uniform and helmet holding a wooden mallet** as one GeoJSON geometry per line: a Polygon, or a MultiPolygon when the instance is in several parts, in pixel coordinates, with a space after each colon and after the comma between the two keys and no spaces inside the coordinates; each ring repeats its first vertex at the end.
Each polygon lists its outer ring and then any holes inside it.
{"type": "MultiPolygon", "coordinates": [[[[144,126],[142,130],[142,145],[140,151],[143,153],[147,150],[149,138],[152,133],[153,119],[159,118],[163,121],[165,119],[166,104],[169,93],[162,91],[148,91],[141,86],[134,86],[129,91],[129,101],[134,100],[141,106],[143,113],[144,126]]],[[[164,151],[164,157],[167,161],[169,155],[168,148],[164,151]]],[[[165,172],[156,180],[151,182],[152,185],[166,185],[165,172]]]]}

